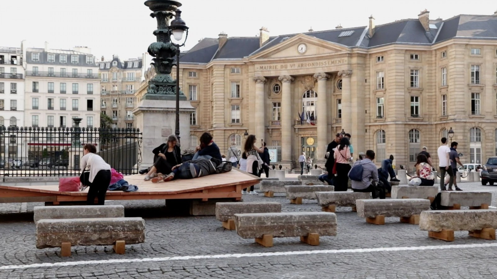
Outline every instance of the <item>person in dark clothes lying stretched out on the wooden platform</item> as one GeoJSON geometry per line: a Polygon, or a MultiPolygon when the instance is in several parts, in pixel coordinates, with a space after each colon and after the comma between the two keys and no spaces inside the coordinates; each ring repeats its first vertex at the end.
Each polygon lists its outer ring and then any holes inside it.
{"type": "MultiPolygon", "coordinates": [[[[215,174],[217,173],[216,168],[219,164],[221,164],[221,161],[216,158],[211,158],[209,160],[200,158],[186,161],[173,166],[172,172],[166,175],[162,181],[171,181],[173,179],[192,179],[215,174]]],[[[159,182],[159,180],[152,180],[152,182],[156,183],[159,182]]]]}

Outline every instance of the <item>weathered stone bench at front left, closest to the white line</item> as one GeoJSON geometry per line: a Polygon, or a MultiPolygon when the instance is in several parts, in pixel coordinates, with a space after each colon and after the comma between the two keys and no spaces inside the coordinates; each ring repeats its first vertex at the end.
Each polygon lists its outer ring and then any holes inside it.
{"type": "Polygon", "coordinates": [[[72,245],[114,245],[124,254],[125,244],[145,241],[145,221],[131,218],[40,219],[36,222],[36,248],[61,247],[61,256],[71,256],[72,245]]]}

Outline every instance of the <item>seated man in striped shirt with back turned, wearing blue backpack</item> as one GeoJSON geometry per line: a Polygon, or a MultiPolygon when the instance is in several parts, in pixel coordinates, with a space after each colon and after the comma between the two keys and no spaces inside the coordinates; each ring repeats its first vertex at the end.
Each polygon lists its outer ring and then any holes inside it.
{"type": "MultiPolygon", "coordinates": [[[[378,169],[376,165],[373,163],[374,160],[374,151],[367,150],[366,158],[360,161],[356,161],[354,165],[362,165],[362,181],[354,181],[352,180],[352,191],[354,192],[371,192],[373,199],[376,199],[376,188],[381,188],[381,183],[378,179],[378,169]]],[[[385,189],[381,188],[380,191],[380,199],[385,199],[385,189]]]]}

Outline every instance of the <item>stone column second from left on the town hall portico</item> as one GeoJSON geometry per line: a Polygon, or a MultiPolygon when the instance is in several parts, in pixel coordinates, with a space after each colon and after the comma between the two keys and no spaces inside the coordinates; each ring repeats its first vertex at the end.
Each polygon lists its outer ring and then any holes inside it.
{"type": "Polygon", "coordinates": [[[290,75],[281,75],[278,79],[281,88],[281,164],[292,167],[292,101],[291,82],[294,78],[290,75]]]}

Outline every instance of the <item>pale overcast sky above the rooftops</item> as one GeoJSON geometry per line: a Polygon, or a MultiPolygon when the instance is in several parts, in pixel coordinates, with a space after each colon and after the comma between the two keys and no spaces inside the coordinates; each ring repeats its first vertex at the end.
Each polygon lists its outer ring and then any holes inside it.
{"type": "MultiPolygon", "coordinates": [[[[180,0],[182,18],[190,27],[186,46],[201,38],[255,36],[265,26],[270,35],[365,26],[373,14],[376,24],[417,18],[428,9],[430,18],[450,18],[458,14],[493,14],[495,1],[417,0],[180,0]],[[475,2],[476,3],[476,2],[475,2]]],[[[70,49],[87,46],[99,60],[113,54],[136,58],[155,42],[156,19],[144,0],[0,0],[0,46],[70,49]]]]}

